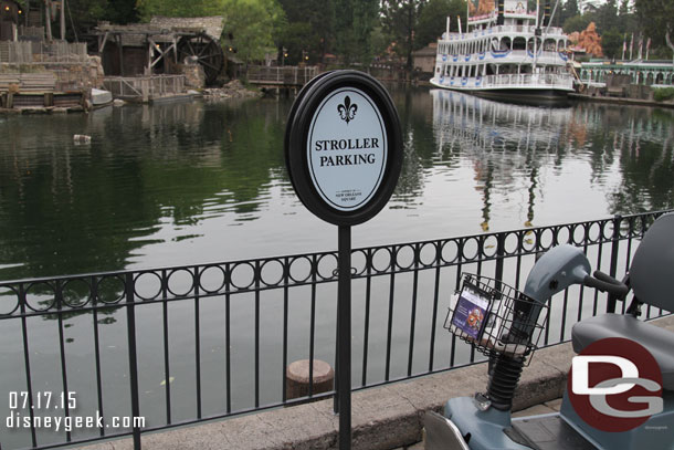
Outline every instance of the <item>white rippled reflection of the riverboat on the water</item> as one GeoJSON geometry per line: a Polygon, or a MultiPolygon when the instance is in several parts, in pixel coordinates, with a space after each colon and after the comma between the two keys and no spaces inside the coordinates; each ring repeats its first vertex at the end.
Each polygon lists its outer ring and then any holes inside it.
{"type": "Polygon", "coordinates": [[[564,153],[561,137],[571,108],[514,105],[444,90],[431,95],[439,158],[459,154],[470,161],[482,198],[482,230],[489,230],[495,180],[505,189],[524,184],[524,226],[531,227],[540,165],[547,163],[545,156],[564,153]]]}

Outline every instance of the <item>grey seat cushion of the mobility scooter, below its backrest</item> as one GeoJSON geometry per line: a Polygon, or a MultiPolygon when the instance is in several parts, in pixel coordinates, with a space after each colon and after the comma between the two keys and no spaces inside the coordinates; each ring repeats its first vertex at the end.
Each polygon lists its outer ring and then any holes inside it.
{"type": "Polygon", "coordinates": [[[643,345],[660,366],[663,389],[674,390],[674,333],[623,314],[602,314],[583,318],[571,329],[576,353],[607,337],[623,337],[643,345]]]}

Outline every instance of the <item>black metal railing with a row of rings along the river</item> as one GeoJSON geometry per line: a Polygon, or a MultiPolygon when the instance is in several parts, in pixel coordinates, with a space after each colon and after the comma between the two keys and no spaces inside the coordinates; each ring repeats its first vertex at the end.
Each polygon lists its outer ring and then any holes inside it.
{"type": "MultiPolygon", "coordinates": [[[[484,360],[442,327],[462,272],[522,287],[537,254],[572,243],[593,269],[620,278],[661,213],[354,250],[352,388],[484,360]]],[[[12,408],[10,399],[2,416],[24,418],[3,448],[120,436],[139,448],[141,432],[334,395],[314,395],[309,386],[308,397],[288,399],[286,367],[335,360],[336,269],[336,252],[319,252],[0,282],[0,391],[19,400],[12,408]],[[48,395],[75,400],[45,408],[48,395]],[[104,426],[36,426],[50,415],[99,415],[104,426]],[[119,421],[126,417],[146,421],[119,421]]],[[[575,322],[617,306],[579,286],[558,294],[543,345],[568,339],[575,322]]],[[[647,308],[643,316],[663,314],[647,308]]]]}

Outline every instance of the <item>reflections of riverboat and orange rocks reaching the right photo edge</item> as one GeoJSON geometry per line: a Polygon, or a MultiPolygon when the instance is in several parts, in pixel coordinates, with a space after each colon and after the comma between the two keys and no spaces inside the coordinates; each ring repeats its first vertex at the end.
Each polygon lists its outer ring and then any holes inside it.
{"type": "MultiPolygon", "coordinates": [[[[564,175],[570,165],[585,160],[589,178],[570,174],[565,182],[589,182],[590,191],[605,191],[607,212],[641,212],[674,203],[672,111],[591,103],[533,107],[443,90],[431,95],[435,164],[454,165],[456,158],[470,163],[485,231],[494,189],[522,192],[523,224],[530,227],[541,209],[537,200],[551,195],[550,175],[564,175]]],[[[573,197],[565,202],[587,201],[573,197]]]]}

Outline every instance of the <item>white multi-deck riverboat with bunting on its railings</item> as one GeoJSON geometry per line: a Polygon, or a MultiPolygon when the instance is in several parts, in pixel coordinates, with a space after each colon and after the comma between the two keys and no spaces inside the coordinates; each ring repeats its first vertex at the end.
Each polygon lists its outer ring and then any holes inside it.
{"type": "Polygon", "coordinates": [[[493,11],[468,17],[465,31],[450,32],[447,18],[431,84],[495,98],[565,100],[573,91],[568,38],[549,25],[549,3],[540,21],[526,4],[499,0],[493,11]]]}

